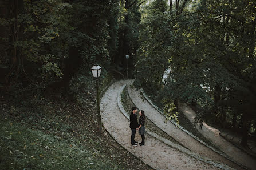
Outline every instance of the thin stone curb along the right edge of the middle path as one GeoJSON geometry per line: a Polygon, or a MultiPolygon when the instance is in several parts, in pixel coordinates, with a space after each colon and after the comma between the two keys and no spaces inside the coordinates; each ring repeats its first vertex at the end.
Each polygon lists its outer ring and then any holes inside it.
{"type": "MultiPolygon", "coordinates": [[[[163,110],[161,110],[159,107],[157,107],[152,101],[151,99],[148,98],[148,96],[145,94],[144,90],[142,88],[140,88],[140,92],[143,94],[144,98],[160,113],[162,114],[164,117],[166,117],[163,114],[163,110]]],[[[232,159],[231,157],[223,154],[222,152],[216,150],[214,147],[212,147],[211,145],[208,145],[207,143],[205,143],[203,140],[199,139],[198,137],[196,137],[195,135],[193,135],[191,132],[187,131],[186,129],[184,129],[182,126],[180,126],[179,124],[177,124],[174,120],[170,120],[171,123],[175,124],[175,126],[179,127],[180,129],[182,129],[182,131],[186,132],[188,135],[190,135],[191,137],[193,137],[195,140],[199,141],[200,143],[202,143],[203,145],[205,145],[206,147],[212,149],[212,151],[218,153],[219,155],[225,157],[226,159],[229,159],[230,161],[232,161],[233,163],[239,165],[242,168],[248,169],[247,167],[245,167],[244,165],[238,163],[237,161],[235,161],[234,159],[232,159]]]]}

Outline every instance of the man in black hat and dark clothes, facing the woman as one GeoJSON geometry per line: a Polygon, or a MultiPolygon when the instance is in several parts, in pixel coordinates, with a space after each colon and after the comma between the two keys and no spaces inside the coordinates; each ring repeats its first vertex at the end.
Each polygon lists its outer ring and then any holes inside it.
{"type": "Polygon", "coordinates": [[[138,119],[137,119],[137,107],[132,107],[132,112],[130,115],[130,128],[132,129],[131,143],[133,146],[137,146],[137,141],[134,140],[136,134],[136,128],[139,127],[138,119]]]}

